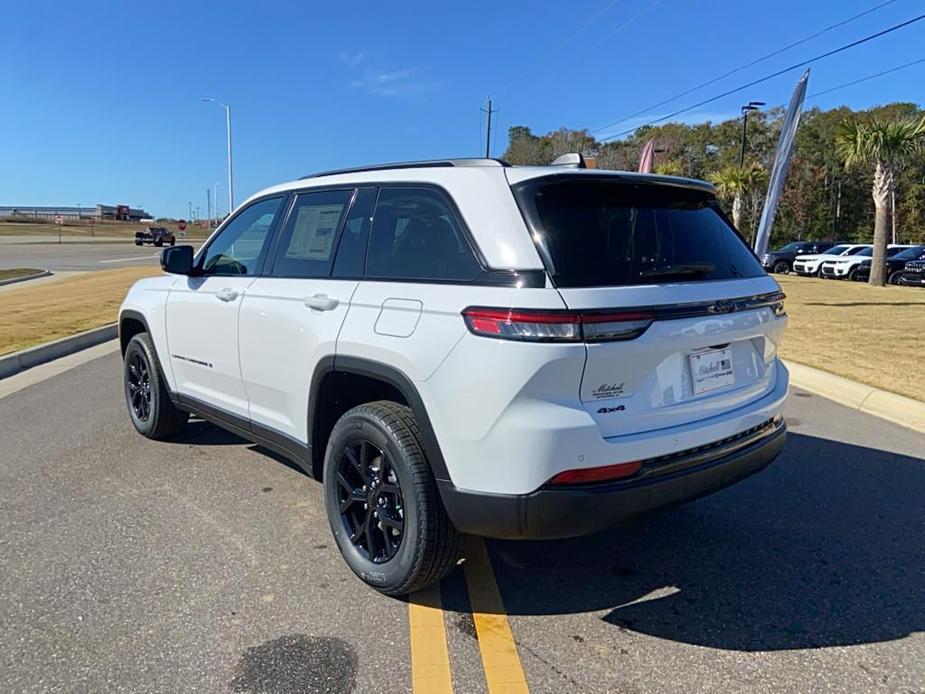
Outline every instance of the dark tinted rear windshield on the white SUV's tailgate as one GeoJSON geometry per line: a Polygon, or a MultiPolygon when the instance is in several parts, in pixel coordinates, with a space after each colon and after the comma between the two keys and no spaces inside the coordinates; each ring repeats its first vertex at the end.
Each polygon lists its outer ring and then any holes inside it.
{"type": "Polygon", "coordinates": [[[706,191],[556,176],[519,184],[514,195],[559,287],[764,274],[706,191]]]}

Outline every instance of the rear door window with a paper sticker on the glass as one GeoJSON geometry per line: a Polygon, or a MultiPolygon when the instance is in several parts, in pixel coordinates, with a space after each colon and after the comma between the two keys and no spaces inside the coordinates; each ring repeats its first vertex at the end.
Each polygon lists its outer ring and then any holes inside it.
{"type": "Polygon", "coordinates": [[[334,262],[334,244],[352,190],[300,193],[286,227],[279,235],[273,275],[327,277],[334,262]]]}

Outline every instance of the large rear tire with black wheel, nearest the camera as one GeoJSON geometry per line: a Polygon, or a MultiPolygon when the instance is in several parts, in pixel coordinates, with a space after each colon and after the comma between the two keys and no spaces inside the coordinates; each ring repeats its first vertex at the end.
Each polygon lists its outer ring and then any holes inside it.
{"type": "Polygon", "coordinates": [[[323,475],[331,532],[362,581],[405,595],[456,565],[462,536],[446,515],[408,407],[380,400],[344,414],[328,439],[323,475]]]}

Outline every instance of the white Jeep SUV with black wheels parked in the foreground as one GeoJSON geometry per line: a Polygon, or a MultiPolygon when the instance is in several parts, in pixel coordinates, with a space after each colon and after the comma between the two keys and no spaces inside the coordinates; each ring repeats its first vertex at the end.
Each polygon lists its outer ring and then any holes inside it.
{"type": "Polygon", "coordinates": [[[783,294],[709,184],[497,160],[309,176],[122,305],[135,428],[189,413],[321,479],[350,568],[401,594],[460,538],[590,533],[784,445],[783,294]]]}

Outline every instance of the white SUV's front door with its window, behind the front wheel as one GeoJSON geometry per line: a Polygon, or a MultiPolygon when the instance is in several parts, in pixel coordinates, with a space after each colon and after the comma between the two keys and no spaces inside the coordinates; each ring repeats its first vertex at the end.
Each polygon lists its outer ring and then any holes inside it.
{"type": "Polygon", "coordinates": [[[241,380],[238,313],[264,262],[284,197],[237,213],[200,253],[200,273],[174,284],[167,298],[167,345],[177,391],[247,417],[241,380]]]}

